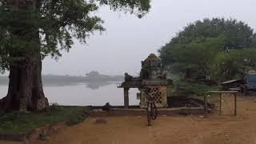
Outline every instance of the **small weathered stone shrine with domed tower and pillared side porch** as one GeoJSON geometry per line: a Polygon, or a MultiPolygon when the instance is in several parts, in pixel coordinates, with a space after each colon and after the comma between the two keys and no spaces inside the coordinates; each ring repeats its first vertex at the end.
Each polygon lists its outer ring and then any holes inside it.
{"type": "Polygon", "coordinates": [[[124,105],[129,107],[129,89],[138,88],[140,91],[140,107],[146,108],[148,94],[153,94],[154,102],[158,107],[168,107],[166,94],[166,74],[163,70],[161,58],[155,54],[150,54],[142,61],[142,70],[138,78],[133,78],[125,74],[125,82],[118,88],[124,89],[124,105]]]}

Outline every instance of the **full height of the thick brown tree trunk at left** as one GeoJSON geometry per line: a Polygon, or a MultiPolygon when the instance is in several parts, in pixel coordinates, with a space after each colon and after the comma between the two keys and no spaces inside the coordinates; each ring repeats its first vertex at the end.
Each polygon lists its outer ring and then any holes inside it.
{"type": "Polygon", "coordinates": [[[11,30],[15,38],[27,43],[27,47],[15,49],[10,54],[13,61],[10,62],[9,89],[6,97],[0,100],[0,107],[3,110],[44,110],[49,104],[42,90],[39,29],[36,24],[31,24],[35,21],[33,18],[38,1],[8,0],[8,3],[14,8],[29,10],[30,13],[20,14],[22,18],[26,18],[22,19],[26,26],[14,25],[11,30]],[[30,20],[31,22],[26,22],[30,20]]]}

